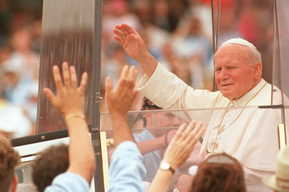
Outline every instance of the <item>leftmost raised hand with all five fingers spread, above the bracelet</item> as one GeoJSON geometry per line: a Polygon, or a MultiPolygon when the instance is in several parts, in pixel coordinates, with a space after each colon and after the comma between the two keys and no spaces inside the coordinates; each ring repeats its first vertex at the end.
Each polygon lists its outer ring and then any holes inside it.
{"type": "Polygon", "coordinates": [[[70,66],[68,68],[67,62],[62,63],[63,82],[58,66],[53,66],[52,73],[57,95],[55,96],[48,87],[43,89],[52,106],[64,117],[70,115],[84,116],[84,92],[88,74],[86,72],[82,74],[78,87],[75,67],[70,66]]]}

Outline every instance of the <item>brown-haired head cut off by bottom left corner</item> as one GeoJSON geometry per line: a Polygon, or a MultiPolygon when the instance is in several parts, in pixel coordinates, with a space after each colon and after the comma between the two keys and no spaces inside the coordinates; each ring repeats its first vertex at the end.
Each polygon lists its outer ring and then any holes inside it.
{"type": "Polygon", "coordinates": [[[9,140],[0,136],[0,192],[16,191],[18,179],[14,174],[14,168],[19,159],[9,140]]]}

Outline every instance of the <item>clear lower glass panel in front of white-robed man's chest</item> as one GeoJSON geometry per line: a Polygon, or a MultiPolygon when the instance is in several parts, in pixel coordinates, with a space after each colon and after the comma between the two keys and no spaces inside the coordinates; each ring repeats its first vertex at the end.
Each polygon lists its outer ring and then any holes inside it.
{"type": "MultiPolygon", "coordinates": [[[[282,122],[281,108],[271,106],[261,107],[229,107],[198,110],[152,110],[130,112],[128,114],[130,125],[136,142],[149,151],[144,154],[144,165],[147,170],[144,181],[151,182],[158,169],[166,149],[178,126],[191,119],[202,121],[206,132],[195,146],[188,161],[177,172],[175,182],[181,173],[194,174],[197,165],[212,150],[213,153],[226,152],[236,157],[246,167],[258,167],[264,159],[269,162],[272,170],[275,169],[275,160],[279,151],[278,125],[282,122]],[[218,130],[222,130],[216,142],[218,130]],[[155,142],[158,141],[158,147],[155,142]],[[201,144],[202,142],[202,144],[201,144]],[[203,147],[201,147],[203,145],[203,147]],[[256,146],[258,146],[256,148],[256,146]],[[152,150],[149,150],[152,149],[152,150]],[[157,149],[157,150],[153,150],[157,149]],[[267,151],[270,155],[264,154],[267,151]],[[198,156],[201,154],[200,156],[198,156]],[[260,156],[260,154],[262,154],[260,156]],[[274,156],[274,158],[271,158],[274,156]],[[263,160],[262,160],[263,159],[263,160]],[[253,162],[253,163],[252,163],[253,162]],[[258,163],[256,163],[258,162],[258,163]]],[[[112,124],[108,113],[100,115],[100,130],[106,132],[107,139],[112,138],[112,124]]],[[[108,157],[112,154],[108,149],[108,157]]],[[[144,151],[142,151],[144,153],[144,151]]],[[[172,183],[174,183],[174,181],[172,183]]],[[[174,188],[175,186],[171,186],[174,188]]]]}

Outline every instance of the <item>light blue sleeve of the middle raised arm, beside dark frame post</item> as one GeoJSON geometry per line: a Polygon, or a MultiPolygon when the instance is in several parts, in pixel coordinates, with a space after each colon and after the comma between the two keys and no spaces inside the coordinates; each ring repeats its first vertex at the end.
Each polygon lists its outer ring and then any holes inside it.
{"type": "Polygon", "coordinates": [[[107,192],[143,192],[143,177],[146,174],[143,155],[137,144],[122,142],[111,156],[109,187],[107,192]]]}

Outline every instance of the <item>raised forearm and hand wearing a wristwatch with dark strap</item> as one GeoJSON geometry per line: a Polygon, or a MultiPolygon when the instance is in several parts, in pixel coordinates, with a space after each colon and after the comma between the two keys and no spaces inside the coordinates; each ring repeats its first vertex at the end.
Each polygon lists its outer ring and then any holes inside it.
{"type": "MultiPolygon", "coordinates": [[[[195,126],[195,121],[191,121],[188,127],[182,124],[169,144],[162,162],[168,163],[173,170],[176,170],[190,156],[194,145],[203,132],[202,123],[198,123],[195,126]]],[[[166,192],[172,176],[172,171],[159,168],[148,192],[166,192]]]]}

